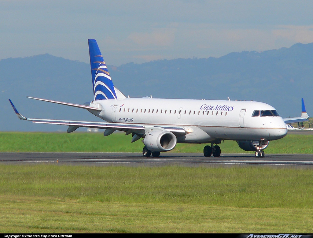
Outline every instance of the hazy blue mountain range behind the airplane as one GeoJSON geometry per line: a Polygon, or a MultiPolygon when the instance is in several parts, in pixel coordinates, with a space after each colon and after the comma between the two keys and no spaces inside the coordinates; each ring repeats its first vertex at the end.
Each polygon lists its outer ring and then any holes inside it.
{"type": "MultiPolygon", "coordinates": [[[[104,53],[104,52],[102,52],[104,53]]],[[[108,64],[112,81],[126,96],[262,101],[283,117],[300,116],[301,97],[313,115],[313,43],[263,52],[233,52],[219,58],[162,59],[144,64],[108,64]]],[[[104,56],[105,58],[105,56],[104,56]]],[[[50,54],[0,60],[0,131],[66,131],[26,117],[99,121],[88,111],[26,98],[83,104],[91,101],[90,65],[50,54]]],[[[81,129],[85,131],[85,129],[81,129]]]]}

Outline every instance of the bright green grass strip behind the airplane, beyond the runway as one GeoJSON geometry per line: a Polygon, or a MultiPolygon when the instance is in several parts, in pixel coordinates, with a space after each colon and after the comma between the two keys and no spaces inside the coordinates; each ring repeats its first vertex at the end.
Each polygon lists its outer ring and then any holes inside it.
{"type": "MultiPolygon", "coordinates": [[[[313,135],[287,134],[271,141],[265,153],[313,153],[313,135]]],[[[143,143],[131,143],[131,135],[113,133],[103,137],[102,133],[44,133],[44,132],[0,132],[1,152],[141,152],[143,143]]],[[[177,153],[203,153],[204,144],[177,144],[171,151],[177,153]]],[[[246,153],[235,141],[223,141],[222,153],[246,153]]],[[[247,152],[252,153],[252,152],[247,152]]]]}

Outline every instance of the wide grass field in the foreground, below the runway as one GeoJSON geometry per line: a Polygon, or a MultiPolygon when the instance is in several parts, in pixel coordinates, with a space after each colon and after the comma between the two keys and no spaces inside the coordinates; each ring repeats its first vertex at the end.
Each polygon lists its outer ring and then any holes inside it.
{"type": "Polygon", "coordinates": [[[0,232],[312,233],[313,170],[0,164],[0,232]]]}

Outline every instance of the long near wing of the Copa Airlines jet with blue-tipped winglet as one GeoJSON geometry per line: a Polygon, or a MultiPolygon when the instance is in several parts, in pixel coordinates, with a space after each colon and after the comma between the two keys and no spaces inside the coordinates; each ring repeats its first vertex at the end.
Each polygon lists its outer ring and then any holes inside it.
{"type": "MultiPolygon", "coordinates": [[[[145,134],[146,128],[151,127],[161,127],[166,131],[170,131],[173,133],[182,133],[186,134],[186,130],[182,127],[169,127],[169,126],[156,126],[156,125],[141,125],[141,124],[132,124],[132,123],[114,123],[114,122],[85,122],[85,121],[69,121],[69,120],[53,120],[53,119],[38,119],[38,118],[27,118],[22,116],[16,107],[13,105],[12,101],[9,99],[11,106],[13,107],[13,110],[15,111],[16,115],[21,120],[31,121],[33,123],[42,123],[42,124],[55,124],[55,125],[64,125],[69,126],[67,129],[67,132],[73,132],[79,127],[87,127],[87,128],[98,128],[98,129],[111,129],[113,131],[125,131],[125,132],[135,132],[139,134],[145,134]]],[[[44,101],[44,100],[43,100],[44,101]]],[[[50,101],[50,100],[49,100],[50,101]]],[[[65,104],[66,105],[66,104],[65,104]]],[[[112,131],[112,132],[113,132],[112,131]]],[[[128,133],[128,134],[129,134],[128,133]]]]}

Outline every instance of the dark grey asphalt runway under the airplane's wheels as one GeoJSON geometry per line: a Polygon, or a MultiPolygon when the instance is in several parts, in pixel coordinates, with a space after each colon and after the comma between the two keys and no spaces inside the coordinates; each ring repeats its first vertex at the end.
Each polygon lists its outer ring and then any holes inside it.
{"type": "Polygon", "coordinates": [[[221,157],[204,157],[201,153],[161,153],[159,158],[144,158],[142,153],[0,153],[0,163],[40,164],[57,163],[89,166],[306,166],[312,167],[313,154],[265,154],[255,158],[254,154],[221,154],[221,157]]]}

